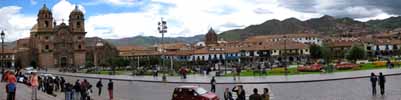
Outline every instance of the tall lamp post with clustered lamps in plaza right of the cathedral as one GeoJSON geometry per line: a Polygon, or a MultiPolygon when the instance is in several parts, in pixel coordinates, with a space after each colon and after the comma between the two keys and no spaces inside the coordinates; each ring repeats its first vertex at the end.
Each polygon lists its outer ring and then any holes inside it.
{"type": "MultiPolygon", "coordinates": [[[[164,66],[164,33],[167,33],[167,22],[163,20],[163,18],[161,18],[160,22],[158,22],[158,27],[157,30],[159,31],[160,34],[162,34],[162,41],[161,41],[161,52],[162,52],[162,67],[164,66]]],[[[163,67],[164,68],[164,67],[163,67]]],[[[166,70],[167,68],[164,68],[164,73],[163,73],[163,77],[162,79],[165,81],[167,79],[166,77],[166,70]]]]}

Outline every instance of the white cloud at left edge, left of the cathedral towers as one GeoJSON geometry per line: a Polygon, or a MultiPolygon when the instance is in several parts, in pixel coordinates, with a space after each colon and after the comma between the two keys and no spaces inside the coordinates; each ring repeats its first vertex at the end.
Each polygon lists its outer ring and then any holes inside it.
{"type": "Polygon", "coordinates": [[[30,29],[36,23],[34,16],[25,16],[20,13],[19,6],[0,8],[0,30],[5,30],[6,41],[14,41],[28,37],[30,29]]]}

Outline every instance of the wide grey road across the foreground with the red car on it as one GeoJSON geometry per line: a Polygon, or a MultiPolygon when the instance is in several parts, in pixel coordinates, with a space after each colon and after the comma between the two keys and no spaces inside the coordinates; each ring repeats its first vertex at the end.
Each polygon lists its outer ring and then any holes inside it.
{"type": "MultiPolygon", "coordinates": [[[[75,82],[76,77],[65,77],[69,82],[75,82]]],[[[385,96],[372,96],[370,81],[368,78],[309,82],[309,83],[285,83],[285,84],[246,84],[247,95],[253,88],[262,89],[268,87],[272,92],[272,100],[401,100],[401,76],[388,76],[385,96]]],[[[82,80],[82,79],[81,79],[82,80]]],[[[95,86],[98,79],[87,79],[95,86]]],[[[217,80],[218,81],[218,80],[217,80]]],[[[107,87],[108,80],[103,80],[103,90],[107,87]]],[[[170,100],[174,87],[180,85],[198,84],[168,84],[148,82],[114,81],[116,100],[170,100]]],[[[223,97],[224,88],[232,88],[235,84],[217,85],[217,94],[223,97]]],[[[201,87],[210,89],[209,85],[201,84],[201,87]]],[[[94,93],[97,89],[94,88],[94,93]]],[[[379,90],[379,89],[378,89],[379,90]]],[[[261,90],[260,90],[261,91],[261,90]]],[[[93,96],[95,100],[107,99],[107,93],[102,96],[93,96]]]]}

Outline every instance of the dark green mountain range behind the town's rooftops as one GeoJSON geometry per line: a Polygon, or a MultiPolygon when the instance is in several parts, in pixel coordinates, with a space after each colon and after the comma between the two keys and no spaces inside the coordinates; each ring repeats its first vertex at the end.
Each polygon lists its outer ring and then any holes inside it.
{"type": "MultiPolygon", "coordinates": [[[[249,36],[269,35],[269,34],[291,34],[300,32],[312,32],[324,35],[349,34],[373,34],[385,32],[401,27],[401,16],[390,17],[383,20],[370,20],[361,22],[352,18],[335,18],[332,16],[322,16],[301,21],[296,18],[285,20],[267,20],[261,24],[250,25],[243,29],[233,29],[221,32],[219,38],[224,40],[243,40],[249,36]]],[[[205,32],[206,34],[206,32],[205,32]]],[[[142,45],[150,46],[160,42],[159,37],[135,36],[122,39],[107,39],[114,45],[142,45]]],[[[185,42],[196,43],[204,40],[204,35],[193,37],[167,37],[166,43],[185,42]]]]}

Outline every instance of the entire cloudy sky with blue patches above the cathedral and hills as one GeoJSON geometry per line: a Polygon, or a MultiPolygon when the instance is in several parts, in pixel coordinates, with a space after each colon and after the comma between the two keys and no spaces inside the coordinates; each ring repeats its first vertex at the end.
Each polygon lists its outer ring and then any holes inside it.
{"type": "MultiPolygon", "coordinates": [[[[0,29],[7,41],[29,36],[39,9],[46,4],[58,23],[78,5],[85,13],[87,37],[158,36],[157,22],[167,20],[166,36],[218,33],[269,19],[300,20],[323,15],[360,21],[401,14],[401,0],[0,0],[0,29]]],[[[67,22],[66,22],[67,23],[67,22]]]]}

